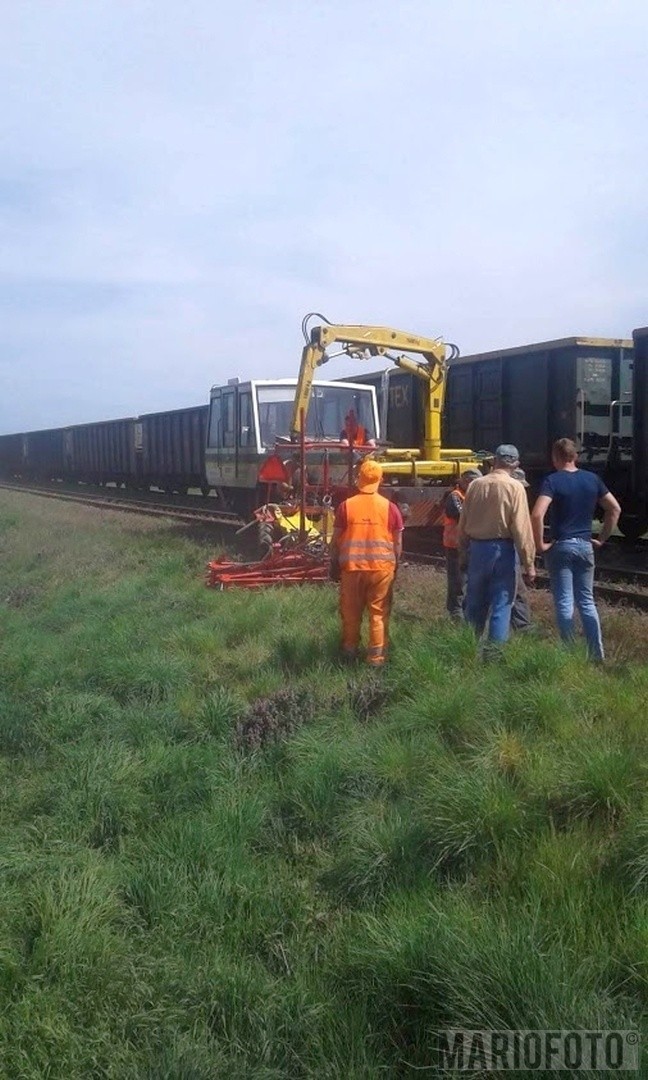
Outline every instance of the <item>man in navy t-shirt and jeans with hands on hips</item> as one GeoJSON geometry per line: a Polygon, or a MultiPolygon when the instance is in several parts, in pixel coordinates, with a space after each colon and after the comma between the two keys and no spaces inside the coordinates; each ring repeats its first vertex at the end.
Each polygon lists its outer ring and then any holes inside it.
{"type": "Polygon", "coordinates": [[[570,438],[558,438],[551,457],[556,472],[543,481],[531,514],[536,549],[544,552],[561,637],[564,642],[573,640],[576,602],[588,654],[600,663],[604,651],[594,603],[594,548],[602,548],[609,539],[621,507],[600,476],[578,468],[578,450],[570,438]],[[550,507],[551,543],[545,543],[544,517],[550,507]],[[592,519],[596,507],[602,508],[604,519],[598,538],[593,540],[592,519]]]}

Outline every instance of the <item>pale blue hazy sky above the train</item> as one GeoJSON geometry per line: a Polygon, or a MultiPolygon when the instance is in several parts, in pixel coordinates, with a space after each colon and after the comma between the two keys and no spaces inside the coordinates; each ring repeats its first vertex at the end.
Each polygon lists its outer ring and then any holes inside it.
{"type": "Polygon", "coordinates": [[[5,0],[0,71],[0,432],[295,376],[309,311],[648,324],[645,0],[5,0]]]}

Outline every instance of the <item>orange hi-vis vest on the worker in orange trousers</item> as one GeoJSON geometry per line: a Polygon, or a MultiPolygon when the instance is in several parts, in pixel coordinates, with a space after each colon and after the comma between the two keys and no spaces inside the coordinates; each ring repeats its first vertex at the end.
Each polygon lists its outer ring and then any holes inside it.
{"type": "Polygon", "coordinates": [[[390,505],[389,499],[377,491],[352,495],[346,500],[347,527],[339,541],[341,570],[395,570],[390,505]]]}

